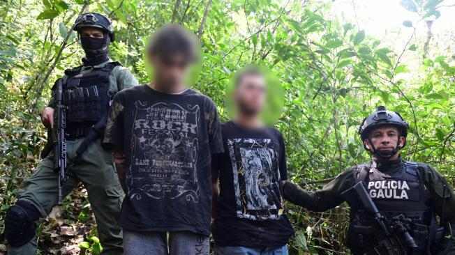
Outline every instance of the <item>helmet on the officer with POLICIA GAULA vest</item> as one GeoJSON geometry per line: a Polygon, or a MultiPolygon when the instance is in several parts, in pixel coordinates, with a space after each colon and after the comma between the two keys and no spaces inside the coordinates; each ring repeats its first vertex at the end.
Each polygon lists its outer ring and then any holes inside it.
{"type": "MultiPolygon", "coordinates": [[[[370,116],[364,118],[364,121],[361,122],[361,125],[359,127],[359,134],[361,137],[362,141],[365,141],[365,139],[368,139],[368,135],[370,134],[371,130],[375,127],[380,127],[383,125],[393,125],[398,127],[398,130],[400,132],[401,137],[408,137],[408,128],[409,124],[406,123],[406,121],[401,118],[400,114],[395,111],[387,111],[387,108],[385,106],[380,106],[378,107],[377,111],[374,114],[370,114],[370,116]]],[[[398,141],[399,143],[399,141],[398,141]]],[[[403,147],[406,145],[406,140],[405,143],[403,144],[403,147]]],[[[364,147],[366,150],[365,144],[364,147]]],[[[392,152],[394,155],[398,150],[401,148],[397,145],[396,149],[392,152]]]]}

